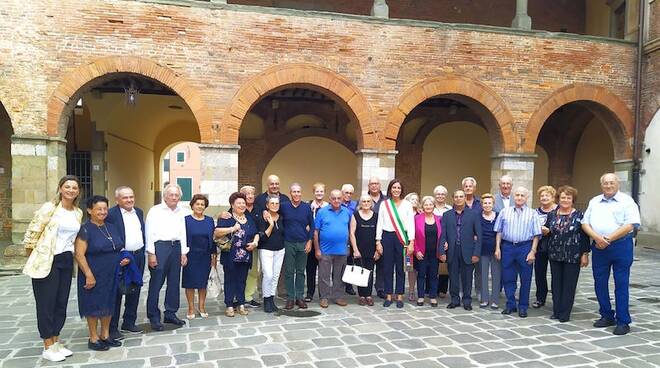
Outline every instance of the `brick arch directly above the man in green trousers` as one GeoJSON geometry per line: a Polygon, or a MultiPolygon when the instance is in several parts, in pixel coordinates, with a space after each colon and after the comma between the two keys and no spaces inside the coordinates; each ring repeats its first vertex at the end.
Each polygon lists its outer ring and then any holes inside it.
{"type": "Polygon", "coordinates": [[[357,122],[358,148],[378,145],[373,112],[364,95],[342,75],[312,64],[285,64],[271,67],[243,84],[232,98],[220,127],[223,144],[238,144],[238,135],[247,113],[263,97],[291,88],[309,88],[331,97],[357,122]]]}

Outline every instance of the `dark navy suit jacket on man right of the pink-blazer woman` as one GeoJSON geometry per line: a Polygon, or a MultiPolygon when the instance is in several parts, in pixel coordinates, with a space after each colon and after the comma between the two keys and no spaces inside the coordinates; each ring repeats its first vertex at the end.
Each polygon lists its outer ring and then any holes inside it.
{"type": "Polygon", "coordinates": [[[447,262],[454,259],[454,252],[461,252],[463,262],[472,263],[472,256],[481,257],[481,219],[480,213],[465,207],[461,222],[461,245],[456,245],[456,210],[451,209],[442,215],[442,235],[438,242],[438,254],[447,254],[447,262]],[[445,252],[445,242],[447,251],[445,252]]]}

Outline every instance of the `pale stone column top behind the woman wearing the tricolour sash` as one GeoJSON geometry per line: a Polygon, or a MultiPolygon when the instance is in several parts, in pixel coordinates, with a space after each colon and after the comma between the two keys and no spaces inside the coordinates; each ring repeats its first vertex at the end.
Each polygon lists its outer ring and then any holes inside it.
{"type": "MultiPolygon", "coordinates": [[[[379,151],[375,149],[361,149],[355,152],[358,156],[358,183],[356,194],[361,195],[369,189],[369,179],[377,176],[380,179],[383,191],[389,181],[394,179],[395,150],[379,151]]],[[[359,197],[356,195],[356,197],[359,197]]]]}

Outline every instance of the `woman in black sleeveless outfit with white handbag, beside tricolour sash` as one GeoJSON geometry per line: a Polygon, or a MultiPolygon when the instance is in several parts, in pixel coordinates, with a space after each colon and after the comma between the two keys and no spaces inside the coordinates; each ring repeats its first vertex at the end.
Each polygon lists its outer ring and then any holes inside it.
{"type": "Polygon", "coordinates": [[[358,210],[351,216],[350,240],[353,248],[353,259],[355,263],[372,271],[366,287],[358,287],[359,305],[374,305],[371,297],[374,280],[374,262],[380,258],[376,252],[376,223],[378,217],[373,211],[374,202],[368,193],[360,197],[358,210]]]}

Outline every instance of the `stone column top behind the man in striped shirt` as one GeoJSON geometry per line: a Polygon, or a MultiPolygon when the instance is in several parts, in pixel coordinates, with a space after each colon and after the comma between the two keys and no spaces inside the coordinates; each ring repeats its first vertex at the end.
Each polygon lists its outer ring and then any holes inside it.
{"type": "Polygon", "coordinates": [[[534,195],[534,153],[501,153],[491,157],[490,190],[491,193],[499,191],[499,182],[502,175],[509,175],[513,179],[513,188],[523,186],[530,192],[528,204],[532,204],[534,195]]]}

